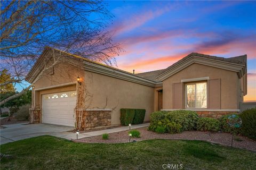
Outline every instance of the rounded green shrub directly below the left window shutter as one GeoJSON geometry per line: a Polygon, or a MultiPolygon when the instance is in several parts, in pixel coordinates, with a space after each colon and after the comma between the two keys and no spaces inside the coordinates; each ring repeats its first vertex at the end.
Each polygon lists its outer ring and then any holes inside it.
{"type": "Polygon", "coordinates": [[[170,122],[175,122],[181,125],[182,131],[196,130],[198,115],[195,111],[171,111],[166,115],[170,122]]]}

